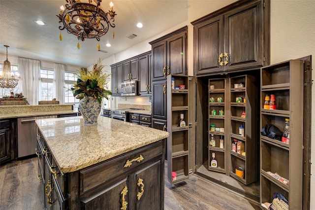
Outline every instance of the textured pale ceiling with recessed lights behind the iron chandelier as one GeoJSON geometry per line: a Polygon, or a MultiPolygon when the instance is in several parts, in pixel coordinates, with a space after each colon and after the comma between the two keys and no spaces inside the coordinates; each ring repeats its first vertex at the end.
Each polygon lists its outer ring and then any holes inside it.
{"type": "MultiPolygon", "coordinates": [[[[81,0],[84,1],[84,0],[81,0]]],[[[87,1],[87,0],[86,0],[87,1]]],[[[111,0],[102,0],[104,10],[111,0]]],[[[96,39],[80,41],[65,30],[59,40],[60,6],[65,0],[0,0],[0,53],[32,58],[66,65],[89,67],[98,57],[106,59],[143,40],[158,35],[184,21],[188,16],[187,0],[112,0],[116,11],[115,38],[113,28],[100,38],[101,51],[97,51],[96,39]],[[39,26],[34,20],[42,20],[39,26]],[[136,27],[138,22],[143,28],[136,27]],[[128,35],[137,35],[133,39],[128,35]],[[105,44],[110,43],[111,47],[105,44]]],[[[3,61],[0,61],[1,63],[3,61]]]]}

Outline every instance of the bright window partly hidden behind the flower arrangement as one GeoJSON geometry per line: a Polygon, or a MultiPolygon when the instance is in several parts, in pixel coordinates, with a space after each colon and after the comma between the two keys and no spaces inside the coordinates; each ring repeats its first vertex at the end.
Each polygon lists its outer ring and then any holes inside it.
{"type": "Polygon", "coordinates": [[[77,81],[77,76],[72,72],[64,72],[64,104],[74,104],[74,109],[78,109],[79,100],[71,91],[71,86],[77,81]]]}

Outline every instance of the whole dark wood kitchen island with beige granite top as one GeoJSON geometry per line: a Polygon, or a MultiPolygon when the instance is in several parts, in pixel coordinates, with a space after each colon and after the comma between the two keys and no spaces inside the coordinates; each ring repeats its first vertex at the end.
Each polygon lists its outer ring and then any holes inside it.
{"type": "Polygon", "coordinates": [[[167,132],[104,117],[36,120],[46,209],[163,209],[167,132]]]}

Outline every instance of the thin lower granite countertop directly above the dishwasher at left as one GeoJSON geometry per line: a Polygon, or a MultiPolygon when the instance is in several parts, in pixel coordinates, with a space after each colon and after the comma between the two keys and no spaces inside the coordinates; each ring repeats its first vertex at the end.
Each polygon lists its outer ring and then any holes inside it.
{"type": "Polygon", "coordinates": [[[63,110],[63,111],[39,111],[39,112],[24,112],[24,113],[9,113],[0,114],[0,119],[8,118],[19,118],[19,117],[37,117],[37,116],[48,116],[48,115],[58,115],[58,114],[74,114],[79,113],[75,110],[63,110]]]}

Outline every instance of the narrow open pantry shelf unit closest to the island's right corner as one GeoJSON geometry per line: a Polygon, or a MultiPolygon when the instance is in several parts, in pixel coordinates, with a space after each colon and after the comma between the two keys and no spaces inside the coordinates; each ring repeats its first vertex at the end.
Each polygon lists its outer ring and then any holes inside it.
{"type": "Polygon", "coordinates": [[[167,138],[167,177],[171,184],[189,178],[189,76],[168,75],[167,77],[167,128],[170,133],[167,138]],[[174,89],[185,85],[185,89],[174,89]],[[180,126],[181,114],[185,126],[180,126]],[[172,175],[176,173],[176,175],[172,175]]]}

